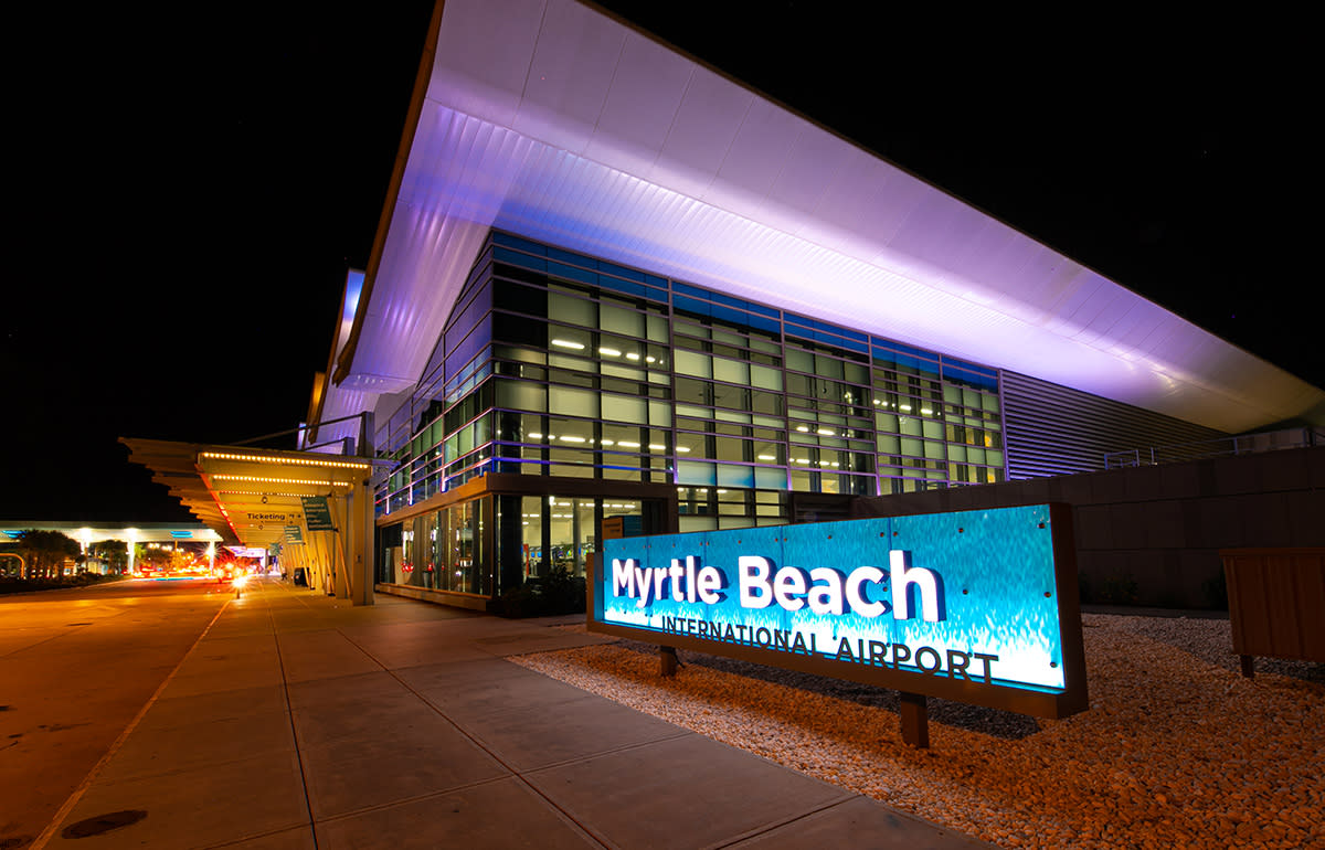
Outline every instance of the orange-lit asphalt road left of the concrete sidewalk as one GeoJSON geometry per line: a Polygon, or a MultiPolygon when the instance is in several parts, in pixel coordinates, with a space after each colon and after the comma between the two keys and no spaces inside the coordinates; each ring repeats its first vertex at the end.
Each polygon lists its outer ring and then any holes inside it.
{"type": "Polygon", "coordinates": [[[233,598],[203,580],[0,596],[0,850],[46,827],[233,598]]]}

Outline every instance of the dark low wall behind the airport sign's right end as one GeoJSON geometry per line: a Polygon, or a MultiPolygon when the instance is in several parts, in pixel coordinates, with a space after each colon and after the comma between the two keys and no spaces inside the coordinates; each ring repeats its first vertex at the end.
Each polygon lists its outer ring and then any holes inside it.
{"type": "Polygon", "coordinates": [[[856,516],[1073,507],[1083,601],[1226,608],[1219,549],[1325,545],[1325,446],[857,499],[856,516]]]}

